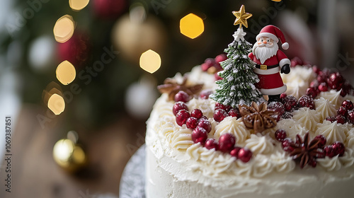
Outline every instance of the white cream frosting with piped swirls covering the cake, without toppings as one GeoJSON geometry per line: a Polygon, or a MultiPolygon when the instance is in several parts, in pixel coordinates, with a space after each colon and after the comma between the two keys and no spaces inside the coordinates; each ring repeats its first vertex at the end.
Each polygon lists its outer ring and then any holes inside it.
{"type": "MultiPolygon", "coordinates": [[[[311,68],[297,66],[284,82],[287,93],[300,98],[306,93],[315,74],[311,68]],[[300,75],[301,74],[301,75],[300,75]],[[305,75],[303,75],[305,74],[305,75]],[[301,85],[301,86],[299,86],[301,85]],[[302,88],[304,85],[305,89],[302,88]],[[303,90],[304,89],[304,90],[303,90]]],[[[213,74],[195,66],[186,74],[191,85],[202,83],[203,90],[216,88],[213,74]]],[[[174,78],[181,81],[183,76],[174,78]]],[[[229,153],[208,149],[192,139],[193,129],[176,124],[172,109],[174,101],[166,93],[156,100],[147,121],[146,197],[352,197],[354,193],[354,128],[353,124],[339,124],[326,120],[336,115],[343,100],[340,91],[320,93],[314,100],[316,108],[299,107],[292,118],[282,118],[277,125],[255,133],[242,122],[242,117],[225,117],[221,122],[212,116],[215,101],[195,97],[189,100],[188,109],[200,109],[212,125],[208,138],[218,140],[222,134],[236,137],[236,146],[252,151],[250,161],[243,162],[229,153]],[[317,158],[316,168],[300,168],[297,161],[275,139],[275,131],[284,129],[287,137],[295,140],[309,133],[311,139],[321,134],[327,144],[343,142],[343,156],[317,158]]]]}

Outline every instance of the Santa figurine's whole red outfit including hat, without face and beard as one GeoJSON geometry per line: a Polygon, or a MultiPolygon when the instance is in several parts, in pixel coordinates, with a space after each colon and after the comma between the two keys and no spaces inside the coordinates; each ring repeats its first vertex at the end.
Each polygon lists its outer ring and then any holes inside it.
{"type": "MultiPolygon", "coordinates": [[[[278,41],[280,40],[280,42],[282,42],[282,49],[287,50],[287,48],[289,48],[284,34],[274,25],[267,25],[262,28],[260,33],[256,36],[256,40],[260,37],[270,37],[274,40],[274,45],[278,45],[278,41]]],[[[290,65],[290,59],[287,58],[284,52],[278,50],[276,54],[266,59],[263,64],[252,52],[249,53],[249,58],[257,64],[256,69],[254,69],[254,72],[259,78],[256,87],[263,95],[279,95],[287,90],[287,86],[282,83],[282,78],[279,73],[282,66],[285,64],[290,65]]]]}

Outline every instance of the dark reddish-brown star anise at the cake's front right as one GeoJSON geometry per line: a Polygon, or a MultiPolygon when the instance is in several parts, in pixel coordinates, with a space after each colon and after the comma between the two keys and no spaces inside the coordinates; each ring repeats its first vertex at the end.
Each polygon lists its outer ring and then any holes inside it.
{"type": "Polygon", "coordinates": [[[307,132],[304,135],[304,139],[297,134],[295,143],[290,143],[290,146],[294,148],[290,156],[292,156],[294,160],[300,161],[300,168],[304,168],[307,164],[313,167],[316,166],[317,156],[323,155],[323,151],[319,149],[320,141],[321,139],[312,139],[312,141],[310,141],[309,132],[307,132]]]}

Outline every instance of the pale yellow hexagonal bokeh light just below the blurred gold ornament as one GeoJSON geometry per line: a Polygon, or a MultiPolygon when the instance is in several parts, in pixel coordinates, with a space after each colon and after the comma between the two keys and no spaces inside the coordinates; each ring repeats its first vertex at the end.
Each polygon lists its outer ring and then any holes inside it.
{"type": "Polygon", "coordinates": [[[140,56],[140,67],[149,73],[154,73],[161,66],[161,57],[153,50],[147,50],[140,56]]]}

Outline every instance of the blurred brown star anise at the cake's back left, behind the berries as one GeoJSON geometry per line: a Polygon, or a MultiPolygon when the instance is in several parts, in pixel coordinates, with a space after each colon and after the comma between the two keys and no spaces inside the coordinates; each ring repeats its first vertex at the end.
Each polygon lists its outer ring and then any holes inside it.
{"type": "Polygon", "coordinates": [[[184,91],[188,95],[194,95],[202,90],[203,84],[193,86],[187,85],[187,77],[183,76],[182,83],[178,83],[176,79],[166,78],[163,85],[157,86],[160,93],[168,93],[169,100],[173,100],[178,91],[184,91]]]}

